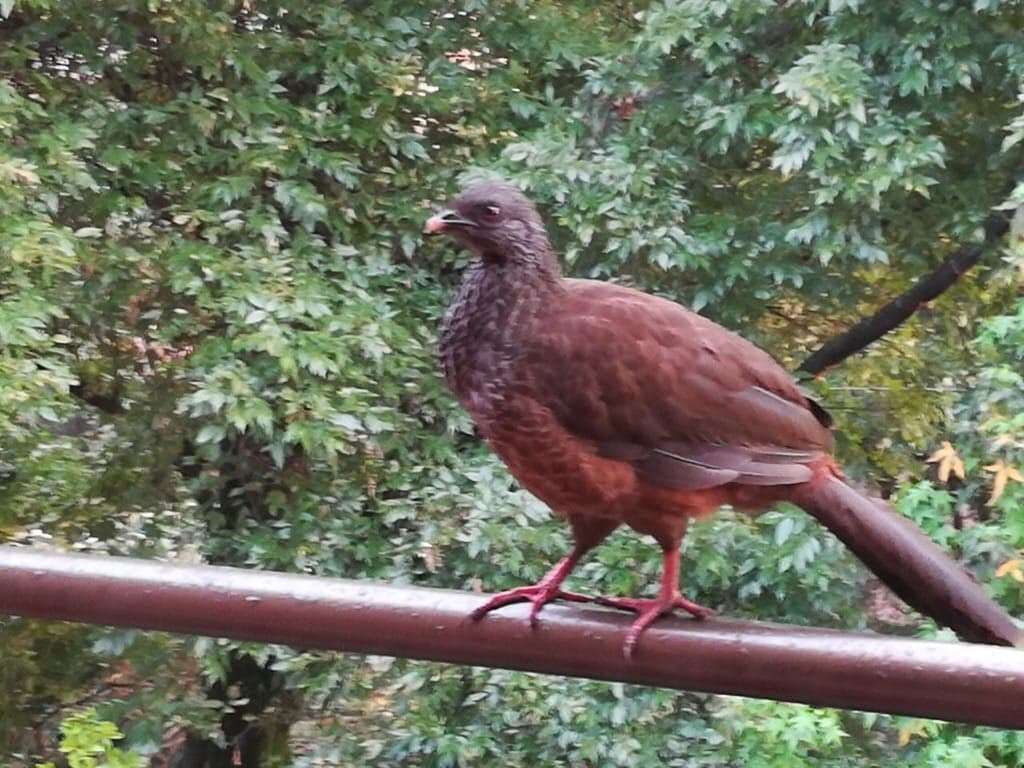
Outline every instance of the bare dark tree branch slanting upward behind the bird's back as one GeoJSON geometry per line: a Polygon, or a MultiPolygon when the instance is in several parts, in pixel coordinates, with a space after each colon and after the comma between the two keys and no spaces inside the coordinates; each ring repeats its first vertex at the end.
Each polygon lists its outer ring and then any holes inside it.
{"type": "Polygon", "coordinates": [[[810,357],[800,364],[798,371],[817,376],[825,369],[842,362],[852,354],[874,343],[901,325],[918,308],[940,296],[961,275],[978,263],[982,254],[999,241],[1010,228],[1010,219],[1002,213],[992,214],[985,220],[983,242],[962,246],[935,269],[921,278],[905,292],[897,296],[869,317],[864,317],[853,328],[836,336],[810,357]]]}

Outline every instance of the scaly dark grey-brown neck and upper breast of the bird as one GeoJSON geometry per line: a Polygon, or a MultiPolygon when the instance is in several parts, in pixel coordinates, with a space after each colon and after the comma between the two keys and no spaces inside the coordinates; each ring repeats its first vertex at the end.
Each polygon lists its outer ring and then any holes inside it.
{"type": "MultiPolygon", "coordinates": [[[[449,386],[465,404],[494,396],[507,377],[515,342],[562,291],[557,262],[487,259],[467,270],[441,327],[439,354],[449,386]]],[[[472,411],[472,409],[470,409],[472,411]]]]}

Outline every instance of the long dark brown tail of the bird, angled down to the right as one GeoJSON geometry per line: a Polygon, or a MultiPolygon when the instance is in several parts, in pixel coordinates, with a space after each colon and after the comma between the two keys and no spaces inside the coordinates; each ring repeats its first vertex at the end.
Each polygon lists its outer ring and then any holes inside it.
{"type": "Polygon", "coordinates": [[[830,473],[816,474],[791,498],[849,547],[908,605],[963,640],[1024,647],[1024,630],[974,578],[910,520],[830,473]]]}

